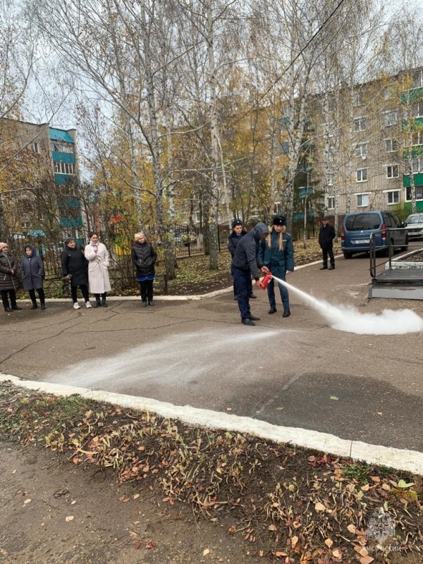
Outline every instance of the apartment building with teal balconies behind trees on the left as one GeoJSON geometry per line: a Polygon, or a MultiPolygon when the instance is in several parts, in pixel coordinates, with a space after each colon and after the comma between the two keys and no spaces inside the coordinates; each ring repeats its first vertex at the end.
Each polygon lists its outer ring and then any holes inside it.
{"type": "Polygon", "coordinates": [[[82,226],[74,195],[75,130],[48,123],[0,120],[0,193],[10,233],[44,235],[82,226]]]}

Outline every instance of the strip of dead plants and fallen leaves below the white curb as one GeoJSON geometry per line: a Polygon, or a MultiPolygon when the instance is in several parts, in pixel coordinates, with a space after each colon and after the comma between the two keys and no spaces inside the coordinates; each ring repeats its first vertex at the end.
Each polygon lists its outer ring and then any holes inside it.
{"type": "Polygon", "coordinates": [[[188,503],[213,522],[229,519],[228,534],[242,535],[264,562],[421,561],[417,476],[8,384],[0,387],[0,436],[49,448],[73,465],[109,468],[120,482],[161,503],[188,503]],[[377,544],[368,534],[374,520],[391,523],[395,535],[377,544]]]}

